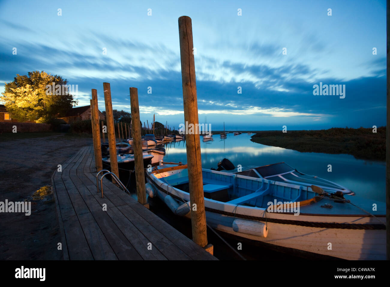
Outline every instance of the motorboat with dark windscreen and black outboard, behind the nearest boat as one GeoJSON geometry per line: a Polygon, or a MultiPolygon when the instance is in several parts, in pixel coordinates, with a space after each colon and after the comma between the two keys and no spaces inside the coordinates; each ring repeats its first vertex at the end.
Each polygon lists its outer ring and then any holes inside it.
{"type": "MultiPolygon", "coordinates": [[[[213,168],[211,168],[213,169],[213,168]]],[[[238,171],[238,168],[228,159],[223,159],[218,162],[218,171],[224,170],[229,173],[236,173],[238,175],[245,175],[254,178],[266,178],[277,182],[286,182],[290,184],[297,184],[302,186],[317,185],[325,191],[335,193],[341,191],[343,194],[355,195],[353,191],[346,187],[331,182],[314,175],[307,175],[301,173],[295,168],[292,168],[285,162],[278,162],[276,164],[268,164],[266,166],[243,166],[238,171]]]]}

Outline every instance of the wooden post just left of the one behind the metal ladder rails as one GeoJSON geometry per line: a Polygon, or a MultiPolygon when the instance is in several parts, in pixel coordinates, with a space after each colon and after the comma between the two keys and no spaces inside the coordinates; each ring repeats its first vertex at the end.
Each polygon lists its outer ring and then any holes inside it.
{"type": "Polygon", "coordinates": [[[97,105],[97,91],[92,89],[92,105],[91,105],[92,130],[94,137],[94,154],[96,171],[103,169],[101,162],[101,142],[100,142],[100,127],[99,127],[99,107],[97,105]]]}

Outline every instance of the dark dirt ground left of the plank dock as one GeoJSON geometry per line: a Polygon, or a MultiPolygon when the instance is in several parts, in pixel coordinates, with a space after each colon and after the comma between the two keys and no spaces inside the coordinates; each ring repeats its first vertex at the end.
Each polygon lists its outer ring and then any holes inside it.
{"type": "Polygon", "coordinates": [[[0,212],[0,260],[58,260],[62,250],[51,175],[92,137],[0,134],[0,201],[31,201],[31,215],[0,212]],[[41,194],[36,191],[41,189],[41,194]]]}

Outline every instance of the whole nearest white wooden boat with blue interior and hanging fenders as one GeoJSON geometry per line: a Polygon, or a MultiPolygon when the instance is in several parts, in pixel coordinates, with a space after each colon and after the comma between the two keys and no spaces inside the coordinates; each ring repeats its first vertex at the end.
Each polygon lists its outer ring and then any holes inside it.
{"type": "MultiPolygon", "coordinates": [[[[207,224],[216,230],[348,260],[386,258],[384,202],[224,171],[202,169],[202,176],[207,224]]],[[[188,216],[186,165],[157,166],[146,178],[149,196],[188,216]]]]}

